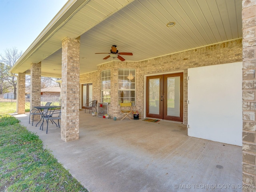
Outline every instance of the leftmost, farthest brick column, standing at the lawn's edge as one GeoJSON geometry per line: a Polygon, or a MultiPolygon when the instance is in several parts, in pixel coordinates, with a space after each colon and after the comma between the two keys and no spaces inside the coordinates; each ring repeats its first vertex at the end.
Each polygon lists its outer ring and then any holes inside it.
{"type": "Polygon", "coordinates": [[[26,76],[26,73],[18,74],[18,90],[17,90],[18,114],[25,113],[25,76],[26,76]]]}

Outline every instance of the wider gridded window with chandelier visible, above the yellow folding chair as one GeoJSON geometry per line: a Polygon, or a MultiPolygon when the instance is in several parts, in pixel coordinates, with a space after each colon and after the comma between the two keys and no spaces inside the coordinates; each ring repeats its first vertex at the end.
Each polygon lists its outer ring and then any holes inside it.
{"type": "Polygon", "coordinates": [[[118,69],[118,105],[135,105],[135,69],[118,69]]]}

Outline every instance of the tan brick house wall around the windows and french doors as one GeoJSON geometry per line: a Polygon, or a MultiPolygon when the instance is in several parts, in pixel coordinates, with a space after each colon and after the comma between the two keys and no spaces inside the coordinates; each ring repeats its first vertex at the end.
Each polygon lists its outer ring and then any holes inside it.
{"type": "Polygon", "coordinates": [[[242,39],[214,44],[202,48],[179,52],[168,56],[145,60],[141,62],[113,61],[98,66],[97,72],[83,74],[80,82],[92,82],[93,97],[100,101],[100,77],[102,70],[111,70],[111,116],[120,117],[118,106],[118,68],[136,69],[136,106],[135,110],[144,112],[144,76],[153,74],[184,72],[184,124],[188,121],[188,68],[225,64],[242,61],[242,39]]]}

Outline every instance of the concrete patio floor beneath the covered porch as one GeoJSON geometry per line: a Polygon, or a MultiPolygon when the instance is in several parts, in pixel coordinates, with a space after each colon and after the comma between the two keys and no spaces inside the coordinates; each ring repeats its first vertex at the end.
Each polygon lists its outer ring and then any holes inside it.
{"type": "Polygon", "coordinates": [[[185,125],[122,121],[80,111],[79,140],[28,124],[44,148],[91,192],[242,191],[242,147],[187,136],[185,125]]]}

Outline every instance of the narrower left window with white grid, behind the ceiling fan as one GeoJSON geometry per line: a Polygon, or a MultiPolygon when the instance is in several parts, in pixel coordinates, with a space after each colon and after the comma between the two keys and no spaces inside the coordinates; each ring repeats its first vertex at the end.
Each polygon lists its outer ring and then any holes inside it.
{"type": "Polygon", "coordinates": [[[101,72],[101,102],[110,104],[110,70],[101,72]]]}

